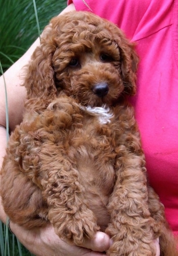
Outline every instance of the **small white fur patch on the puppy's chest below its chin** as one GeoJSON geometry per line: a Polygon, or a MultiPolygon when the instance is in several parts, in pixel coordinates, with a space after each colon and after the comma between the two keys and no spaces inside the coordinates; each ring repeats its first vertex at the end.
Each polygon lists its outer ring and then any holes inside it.
{"type": "Polygon", "coordinates": [[[113,117],[113,113],[109,107],[86,107],[86,111],[98,115],[99,122],[101,124],[108,124],[111,122],[111,118],[113,117]]]}

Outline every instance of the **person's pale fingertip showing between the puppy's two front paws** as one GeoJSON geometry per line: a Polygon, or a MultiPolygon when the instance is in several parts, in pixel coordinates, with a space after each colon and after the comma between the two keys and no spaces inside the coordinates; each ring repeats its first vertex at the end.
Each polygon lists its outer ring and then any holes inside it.
{"type": "Polygon", "coordinates": [[[94,239],[85,239],[82,247],[92,249],[93,251],[106,251],[111,245],[111,240],[107,234],[98,231],[94,239]]]}

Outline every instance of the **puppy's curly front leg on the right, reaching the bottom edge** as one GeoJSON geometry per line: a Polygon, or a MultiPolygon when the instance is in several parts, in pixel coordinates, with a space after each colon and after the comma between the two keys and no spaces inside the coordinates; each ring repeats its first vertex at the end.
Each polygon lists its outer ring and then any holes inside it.
{"type": "Polygon", "coordinates": [[[114,241],[110,256],[155,256],[143,163],[141,156],[131,153],[116,160],[116,183],[108,204],[111,223],[106,229],[114,241]]]}

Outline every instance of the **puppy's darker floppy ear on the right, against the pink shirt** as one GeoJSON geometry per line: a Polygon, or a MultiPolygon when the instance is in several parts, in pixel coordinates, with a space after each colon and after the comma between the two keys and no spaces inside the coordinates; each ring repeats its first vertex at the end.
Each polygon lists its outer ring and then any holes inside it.
{"type": "Polygon", "coordinates": [[[121,53],[121,71],[125,86],[125,93],[134,95],[136,92],[136,71],[138,65],[138,56],[134,50],[134,43],[129,42],[121,32],[118,39],[118,47],[121,53]]]}

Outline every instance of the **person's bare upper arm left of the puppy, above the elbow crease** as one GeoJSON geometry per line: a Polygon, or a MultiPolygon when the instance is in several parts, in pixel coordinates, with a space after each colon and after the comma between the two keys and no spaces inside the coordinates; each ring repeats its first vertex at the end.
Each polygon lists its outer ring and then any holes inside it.
{"type": "Polygon", "coordinates": [[[8,97],[8,112],[9,112],[9,129],[14,130],[15,126],[22,120],[23,103],[26,97],[26,89],[21,86],[23,83],[23,67],[26,65],[39,45],[39,39],[37,39],[31,48],[17,60],[5,73],[0,77],[0,125],[6,127],[6,98],[5,98],[5,86],[7,89],[8,97]]]}

